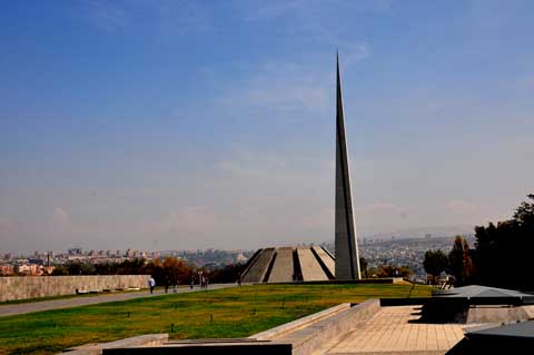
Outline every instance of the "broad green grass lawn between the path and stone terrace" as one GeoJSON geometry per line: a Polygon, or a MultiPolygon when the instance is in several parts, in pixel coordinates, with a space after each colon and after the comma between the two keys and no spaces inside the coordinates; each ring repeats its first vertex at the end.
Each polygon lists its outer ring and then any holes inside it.
{"type": "MultiPolygon", "coordinates": [[[[406,297],[412,285],[257,285],[0,317],[0,354],[55,354],[148,333],[245,337],[344,302],[406,297]]],[[[416,286],[411,296],[431,295],[416,286]]]]}

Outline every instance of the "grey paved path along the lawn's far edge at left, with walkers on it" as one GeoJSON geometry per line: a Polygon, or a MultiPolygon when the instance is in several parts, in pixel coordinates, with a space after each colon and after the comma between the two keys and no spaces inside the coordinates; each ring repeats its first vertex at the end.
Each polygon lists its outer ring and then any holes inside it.
{"type": "MultiPolygon", "coordinates": [[[[235,284],[215,284],[209,285],[209,289],[219,289],[219,288],[227,288],[234,287],[235,284]]],[[[179,287],[178,294],[185,294],[190,292],[198,292],[202,290],[198,286],[191,290],[188,286],[187,287],[179,287]]],[[[72,298],[62,298],[62,299],[53,299],[53,300],[41,300],[41,302],[31,302],[31,303],[22,303],[16,305],[1,305],[0,306],[0,317],[4,316],[12,316],[18,314],[26,314],[26,313],[33,313],[33,312],[41,312],[41,310],[50,310],[50,309],[60,309],[60,308],[70,308],[70,307],[79,307],[79,306],[87,306],[87,305],[96,305],[99,303],[106,302],[117,302],[117,300],[128,300],[135,298],[144,298],[144,297],[154,297],[154,296],[161,296],[165,295],[162,289],[157,289],[154,294],[150,294],[148,290],[141,292],[121,292],[117,294],[105,294],[98,296],[87,296],[87,297],[72,297],[72,298]]],[[[172,295],[172,289],[169,288],[169,294],[172,295]]]]}

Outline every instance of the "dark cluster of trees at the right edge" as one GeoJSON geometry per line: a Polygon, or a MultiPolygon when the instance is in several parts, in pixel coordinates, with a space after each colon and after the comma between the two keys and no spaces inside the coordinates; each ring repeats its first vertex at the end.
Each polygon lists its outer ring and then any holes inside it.
{"type": "MultiPolygon", "coordinates": [[[[527,196],[534,200],[534,195],[527,196]]],[[[524,201],[508,220],[475,227],[475,248],[456,237],[448,255],[428,250],[424,267],[431,275],[447,272],[458,286],[479,284],[534,289],[534,203],[524,201]]]]}

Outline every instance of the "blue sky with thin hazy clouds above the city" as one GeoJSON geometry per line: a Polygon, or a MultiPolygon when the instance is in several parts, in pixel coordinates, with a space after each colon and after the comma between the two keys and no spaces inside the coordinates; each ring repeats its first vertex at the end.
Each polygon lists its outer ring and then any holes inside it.
{"type": "Polygon", "coordinates": [[[360,236],[533,191],[531,1],[11,1],[0,252],[334,233],[339,50],[360,236]]]}

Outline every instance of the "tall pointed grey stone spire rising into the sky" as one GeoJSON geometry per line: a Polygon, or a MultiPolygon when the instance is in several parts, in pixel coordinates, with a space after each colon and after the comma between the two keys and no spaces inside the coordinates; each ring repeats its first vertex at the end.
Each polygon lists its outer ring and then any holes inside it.
{"type": "Polygon", "coordinates": [[[358,244],[354,223],[350,168],[348,165],[345,118],[343,116],[339,57],[337,62],[336,107],[336,279],[359,279],[358,244]]]}

